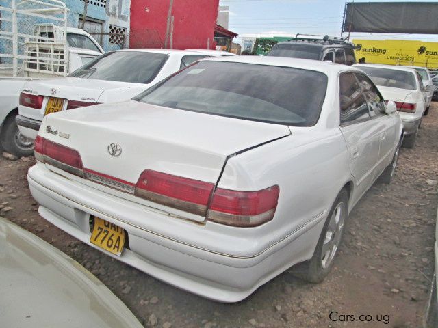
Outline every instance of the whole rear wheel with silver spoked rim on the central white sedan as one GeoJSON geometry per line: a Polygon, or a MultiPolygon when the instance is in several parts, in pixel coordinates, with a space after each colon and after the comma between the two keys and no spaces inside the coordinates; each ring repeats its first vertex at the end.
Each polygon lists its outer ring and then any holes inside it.
{"type": "Polygon", "coordinates": [[[310,260],[298,264],[292,271],[294,275],[308,282],[322,282],[333,266],[333,260],[339,249],[348,217],[348,193],[343,189],[337,195],[329,217],[322,228],[318,245],[310,260]]]}

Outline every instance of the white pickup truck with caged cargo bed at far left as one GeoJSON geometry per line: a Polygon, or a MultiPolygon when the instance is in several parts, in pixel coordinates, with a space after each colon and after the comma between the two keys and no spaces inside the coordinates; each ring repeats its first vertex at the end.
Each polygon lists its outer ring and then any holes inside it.
{"type": "Polygon", "coordinates": [[[65,3],[57,0],[0,5],[0,143],[16,156],[34,151],[33,141],[20,133],[15,122],[23,85],[65,77],[104,53],[86,31],[67,27],[66,15],[65,3]],[[54,23],[34,24],[29,31],[27,23],[35,17],[54,23]]]}

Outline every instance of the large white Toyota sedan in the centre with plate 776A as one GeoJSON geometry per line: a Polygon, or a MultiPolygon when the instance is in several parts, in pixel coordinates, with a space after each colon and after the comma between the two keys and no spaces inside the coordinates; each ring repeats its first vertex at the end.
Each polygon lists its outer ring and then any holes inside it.
{"type": "Polygon", "coordinates": [[[389,182],[402,122],[357,68],[198,61],[133,100],[44,117],[39,213],[117,260],[235,302],[294,264],[333,266],[348,213],[389,182]]]}

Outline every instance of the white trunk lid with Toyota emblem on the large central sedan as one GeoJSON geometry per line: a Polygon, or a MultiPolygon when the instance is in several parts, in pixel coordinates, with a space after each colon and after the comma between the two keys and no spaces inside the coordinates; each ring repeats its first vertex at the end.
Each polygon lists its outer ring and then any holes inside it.
{"type": "Polygon", "coordinates": [[[127,182],[135,184],[144,169],[154,169],[216,184],[227,156],[290,135],[290,130],[129,100],[47,115],[42,134],[79,151],[86,169],[127,182]],[[120,146],[120,156],[110,156],[110,143],[120,146]]]}

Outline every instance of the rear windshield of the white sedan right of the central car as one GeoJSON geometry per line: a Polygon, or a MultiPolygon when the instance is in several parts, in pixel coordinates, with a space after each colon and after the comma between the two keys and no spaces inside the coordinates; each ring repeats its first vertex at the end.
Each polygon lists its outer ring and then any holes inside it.
{"type": "Polygon", "coordinates": [[[415,75],[402,70],[391,70],[387,68],[359,67],[367,73],[375,85],[382,87],[398,87],[399,89],[416,90],[415,75]]]}

